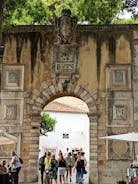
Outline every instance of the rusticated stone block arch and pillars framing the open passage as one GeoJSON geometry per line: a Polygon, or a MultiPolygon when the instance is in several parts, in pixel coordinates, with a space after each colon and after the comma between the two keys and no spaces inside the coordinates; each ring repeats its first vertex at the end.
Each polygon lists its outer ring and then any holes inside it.
{"type": "MultiPolygon", "coordinates": [[[[62,96],[74,96],[83,100],[88,108],[88,117],[90,120],[90,182],[98,183],[98,129],[97,129],[97,107],[96,107],[96,95],[88,93],[84,88],[76,84],[69,84],[66,91],[63,90],[60,83],[58,85],[48,86],[46,82],[41,83],[42,90],[38,91],[34,89],[32,91],[32,97],[26,98],[26,109],[30,109],[30,152],[29,152],[29,167],[32,172],[31,177],[28,178],[30,181],[37,180],[37,156],[39,152],[39,128],[40,128],[40,112],[43,107],[54,100],[57,97],[62,96]]],[[[96,94],[96,93],[95,93],[96,94]]]]}

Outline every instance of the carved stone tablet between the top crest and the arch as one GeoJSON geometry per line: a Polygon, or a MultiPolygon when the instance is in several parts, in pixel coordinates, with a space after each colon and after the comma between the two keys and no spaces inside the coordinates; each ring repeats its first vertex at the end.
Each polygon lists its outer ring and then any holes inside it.
{"type": "Polygon", "coordinates": [[[69,83],[75,84],[78,80],[78,45],[54,45],[52,76],[53,83],[60,83],[63,90],[69,83]],[[65,85],[64,85],[65,84],[65,85]]]}

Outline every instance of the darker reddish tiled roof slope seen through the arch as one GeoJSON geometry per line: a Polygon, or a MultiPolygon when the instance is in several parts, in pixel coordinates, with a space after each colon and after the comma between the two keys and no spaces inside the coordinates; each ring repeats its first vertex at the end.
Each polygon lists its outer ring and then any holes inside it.
{"type": "Polygon", "coordinates": [[[69,113],[87,113],[86,110],[71,107],[57,101],[50,102],[43,109],[44,111],[54,111],[54,112],[69,112],[69,113]]]}

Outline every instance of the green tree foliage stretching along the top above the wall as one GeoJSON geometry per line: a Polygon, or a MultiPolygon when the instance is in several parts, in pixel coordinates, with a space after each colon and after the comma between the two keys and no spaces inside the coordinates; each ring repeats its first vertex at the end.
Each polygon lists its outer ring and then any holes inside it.
{"type": "Polygon", "coordinates": [[[137,0],[5,0],[4,27],[51,24],[63,9],[70,9],[79,22],[110,24],[124,9],[137,18],[137,5],[137,0]]]}

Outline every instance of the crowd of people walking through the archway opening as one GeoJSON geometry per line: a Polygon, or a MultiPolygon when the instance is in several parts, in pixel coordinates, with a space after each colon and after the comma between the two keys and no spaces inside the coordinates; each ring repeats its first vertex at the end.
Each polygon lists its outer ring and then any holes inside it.
{"type": "Polygon", "coordinates": [[[45,184],[52,184],[53,180],[57,184],[58,177],[60,184],[68,183],[68,180],[71,182],[73,170],[76,170],[76,183],[82,184],[83,176],[87,173],[86,164],[85,153],[82,149],[69,151],[67,148],[65,154],[59,150],[57,158],[51,152],[45,152],[39,159],[41,184],[44,183],[44,176],[45,184]]]}

